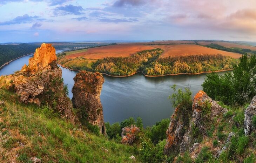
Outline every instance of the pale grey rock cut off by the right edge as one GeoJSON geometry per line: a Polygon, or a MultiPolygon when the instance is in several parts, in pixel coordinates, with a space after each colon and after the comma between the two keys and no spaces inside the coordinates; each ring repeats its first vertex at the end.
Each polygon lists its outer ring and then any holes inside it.
{"type": "Polygon", "coordinates": [[[255,127],[252,125],[252,117],[256,116],[256,96],[251,100],[250,105],[244,111],[244,133],[249,135],[255,127]]]}

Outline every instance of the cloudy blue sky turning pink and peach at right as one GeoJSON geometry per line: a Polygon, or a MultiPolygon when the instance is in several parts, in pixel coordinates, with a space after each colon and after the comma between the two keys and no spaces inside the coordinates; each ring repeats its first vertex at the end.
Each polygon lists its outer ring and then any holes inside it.
{"type": "Polygon", "coordinates": [[[0,42],[256,41],[256,0],[0,0],[0,42]]]}

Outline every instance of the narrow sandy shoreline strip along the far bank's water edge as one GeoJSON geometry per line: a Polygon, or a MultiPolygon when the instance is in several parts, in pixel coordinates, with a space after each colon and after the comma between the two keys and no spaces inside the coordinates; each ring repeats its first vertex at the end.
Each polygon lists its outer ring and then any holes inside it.
{"type": "MultiPolygon", "coordinates": [[[[67,69],[69,69],[69,70],[71,70],[71,71],[78,71],[78,72],[81,72],[81,70],[71,69],[71,68],[69,68],[69,67],[63,66],[63,65],[60,64],[60,63],[58,63],[58,64],[59,64],[61,67],[67,68],[67,69]]],[[[215,73],[217,73],[217,72],[225,72],[225,71],[230,71],[230,70],[233,70],[233,69],[217,70],[217,71],[206,71],[206,72],[204,71],[204,72],[195,73],[195,74],[192,74],[192,73],[178,73],[178,74],[154,75],[154,76],[146,75],[146,74],[144,74],[142,71],[138,71],[138,72],[132,73],[132,74],[130,74],[130,75],[123,75],[123,76],[114,76],[114,75],[109,75],[109,74],[106,74],[106,73],[102,73],[102,74],[107,75],[107,76],[111,76],[111,77],[128,77],[128,76],[132,76],[132,75],[137,74],[137,73],[142,73],[142,74],[143,74],[144,76],[146,76],[146,77],[160,77],[160,76],[175,76],[175,75],[182,75],[182,74],[184,74],[184,75],[198,75],[198,74],[212,73],[212,72],[215,72],[215,73]]],[[[90,72],[90,71],[88,71],[88,72],[90,72]]]]}

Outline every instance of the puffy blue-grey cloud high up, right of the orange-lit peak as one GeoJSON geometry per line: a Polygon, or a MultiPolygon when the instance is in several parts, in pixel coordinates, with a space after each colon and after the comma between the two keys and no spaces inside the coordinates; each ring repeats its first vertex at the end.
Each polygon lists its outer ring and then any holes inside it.
{"type": "Polygon", "coordinates": [[[69,15],[69,14],[81,15],[81,14],[83,14],[82,11],[84,11],[84,10],[85,9],[83,9],[82,6],[66,5],[66,6],[56,7],[54,9],[54,14],[56,16],[69,15]]]}

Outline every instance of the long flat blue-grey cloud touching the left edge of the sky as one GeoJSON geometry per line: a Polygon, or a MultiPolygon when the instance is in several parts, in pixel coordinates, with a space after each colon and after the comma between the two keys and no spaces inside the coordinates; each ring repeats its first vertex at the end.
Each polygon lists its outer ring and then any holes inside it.
{"type": "Polygon", "coordinates": [[[39,18],[39,16],[29,16],[28,14],[25,14],[23,16],[17,16],[16,18],[14,18],[11,21],[0,22],[0,26],[20,24],[20,23],[28,23],[28,22],[32,22],[34,20],[42,20],[42,19],[38,19],[38,18],[39,18]]]}

